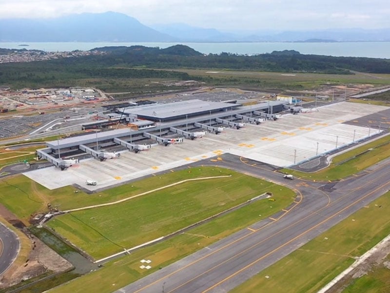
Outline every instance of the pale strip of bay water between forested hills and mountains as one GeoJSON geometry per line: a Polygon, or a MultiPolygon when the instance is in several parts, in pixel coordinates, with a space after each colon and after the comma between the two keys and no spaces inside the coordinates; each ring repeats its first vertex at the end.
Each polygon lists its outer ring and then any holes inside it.
{"type": "MultiPolygon", "coordinates": [[[[104,46],[132,46],[166,48],[173,42],[0,42],[0,48],[37,49],[47,52],[90,50],[104,46]],[[28,46],[20,46],[26,44],[28,46]]],[[[262,54],[272,51],[296,50],[301,54],[372,57],[390,59],[390,42],[183,42],[204,54],[221,52],[234,54],[262,54]]]]}

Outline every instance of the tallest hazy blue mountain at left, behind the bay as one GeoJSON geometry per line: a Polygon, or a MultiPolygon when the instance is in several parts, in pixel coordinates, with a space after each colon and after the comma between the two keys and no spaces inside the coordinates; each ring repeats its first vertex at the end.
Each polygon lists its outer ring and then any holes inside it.
{"type": "Polygon", "coordinates": [[[0,42],[175,42],[175,38],[116,12],[54,19],[0,20],[0,42]]]}

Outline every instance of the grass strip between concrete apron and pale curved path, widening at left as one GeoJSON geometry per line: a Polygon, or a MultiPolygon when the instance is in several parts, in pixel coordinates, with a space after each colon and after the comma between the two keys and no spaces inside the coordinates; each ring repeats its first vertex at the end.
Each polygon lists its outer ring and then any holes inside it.
{"type": "Polygon", "coordinates": [[[102,204],[123,199],[153,188],[159,188],[189,178],[229,175],[232,171],[217,167],[199,167],[167,172],[161,176],[151,176],[132,184],[110,188],[102,192],[87,194],[67,186],[49,190],[24,175],[0,179],[0,203],[27,222],[31,214],[47,209],[47,203],[59,205],[59,209],[67,210],[90,205],[102,204]],[[78,191],[75,193],[75,191],[78,191]]]}

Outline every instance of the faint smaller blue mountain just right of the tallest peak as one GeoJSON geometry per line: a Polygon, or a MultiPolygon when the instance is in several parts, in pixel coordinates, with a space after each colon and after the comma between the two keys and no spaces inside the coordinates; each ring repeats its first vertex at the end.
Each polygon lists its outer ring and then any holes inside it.
{"type": "Polygon", "coordinates": [[[236,42],[240,39],[238,35],[223,33],[215,28],[201,28],[185,23],[155,24],[152,27],[182,42],[236,42]]]}

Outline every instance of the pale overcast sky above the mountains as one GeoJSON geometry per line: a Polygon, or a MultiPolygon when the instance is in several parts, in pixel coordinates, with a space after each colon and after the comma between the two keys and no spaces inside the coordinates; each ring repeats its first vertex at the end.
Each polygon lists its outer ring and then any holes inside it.
{"type": "Polygon", "coordinates": [[[222,31],[390,27],[389,0],[0,0],[1,19],[106,11],[222,31]]]}

